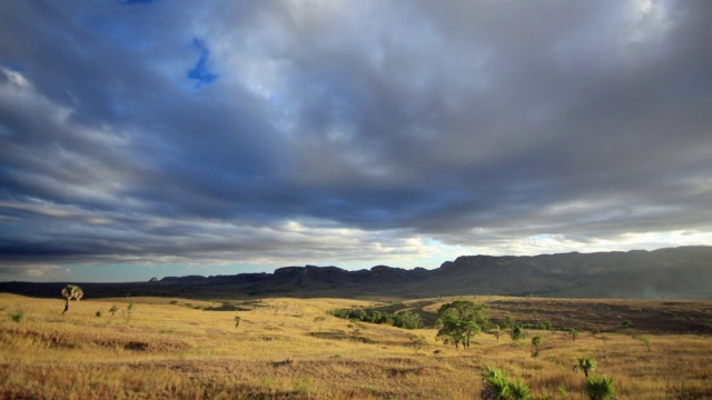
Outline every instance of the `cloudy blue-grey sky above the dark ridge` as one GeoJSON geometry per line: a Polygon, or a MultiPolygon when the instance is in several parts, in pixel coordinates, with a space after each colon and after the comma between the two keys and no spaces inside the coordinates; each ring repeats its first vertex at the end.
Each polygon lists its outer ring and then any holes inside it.
{"type": "Polygon", "coordinates": [[[708,0],[0,2],[0,280],[712,244],[708,0]]]}

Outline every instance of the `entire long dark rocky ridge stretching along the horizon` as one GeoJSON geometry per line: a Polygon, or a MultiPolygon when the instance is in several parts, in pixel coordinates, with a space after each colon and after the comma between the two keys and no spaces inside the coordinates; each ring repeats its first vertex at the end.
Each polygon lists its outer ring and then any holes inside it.
{"type": "MultiPolygon", "coordinates": [[[[0,282],[0,292],[58,297],[63,282],[0,282]]],[[[82,283],[80,283],[82,284],[82,283]]],[[[88,297],[426,298],[507,294],[566,298],[712,299],[712,247],[541,256],[463,256],[439,268],[285,267],[274,273],[167,277],[149,282],[83,283],[88,297]]]]}

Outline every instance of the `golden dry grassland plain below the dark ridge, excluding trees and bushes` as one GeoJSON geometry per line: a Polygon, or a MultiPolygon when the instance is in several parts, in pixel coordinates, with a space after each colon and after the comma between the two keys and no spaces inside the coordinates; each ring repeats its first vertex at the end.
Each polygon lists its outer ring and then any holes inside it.
{"type": "Polygon", "coordinates": [[[427,317],[453,299],[119,298],[72,302],[62,316],[61,299],[0,293],[0,398],[473,399],[481,370],[493,366],[523,379],[535,399],[584,399],[584,377],[572,371],[578,357],[613,377],[619,399],[712,398],[712,339],[699,330],[712,321],[712,302],[467,299],[490,303],[493,318],[581,333],[573,341],[565,331],[530,330],[521,342],[483,333],[455,350],[424,329],[415,332],[427,342],[416,350],[413,331],[355,326],[326,311],[373,306],[427,317]],[[625,320],[633,327],[623,328],[625,320]],[[536,358],[533,336],[543,338],[536,358]]]}

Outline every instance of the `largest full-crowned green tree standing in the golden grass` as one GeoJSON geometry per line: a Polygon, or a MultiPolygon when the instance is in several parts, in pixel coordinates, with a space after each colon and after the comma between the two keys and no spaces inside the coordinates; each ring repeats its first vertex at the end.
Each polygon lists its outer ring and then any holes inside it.
{"type": "Polygon", "coordinates": [[[437,338],[446,339],[464,348],[469,347],[469,340],[482,331],[483,326],[488,324],[490,308],[483,303],[468,300],[456,300],[443,304],[437,310],[438,327],[437,338]]]}

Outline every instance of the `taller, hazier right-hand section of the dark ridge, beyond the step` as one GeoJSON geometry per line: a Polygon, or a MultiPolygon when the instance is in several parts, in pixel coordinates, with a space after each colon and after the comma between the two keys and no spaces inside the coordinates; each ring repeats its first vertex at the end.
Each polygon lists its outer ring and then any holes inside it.
{"type": "Polygon", "coordinates": [[[431,283],[457,294],[712,299],[712,247],[467,256],[443,263],[431,283]]]}

